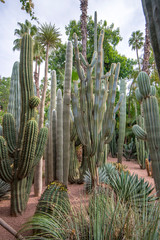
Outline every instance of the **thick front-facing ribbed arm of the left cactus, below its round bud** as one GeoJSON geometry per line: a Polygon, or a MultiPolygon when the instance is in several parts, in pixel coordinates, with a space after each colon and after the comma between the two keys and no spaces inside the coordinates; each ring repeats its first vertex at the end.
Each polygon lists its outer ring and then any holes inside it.
{"type": "Polygon", "coordinates": [[[35,157],[37,137],[37,122],[35,120],[29,120],[25,128],[22,152],[18,164],[17,176],[19,179],[25,178],[32,169],[35,157]]]}

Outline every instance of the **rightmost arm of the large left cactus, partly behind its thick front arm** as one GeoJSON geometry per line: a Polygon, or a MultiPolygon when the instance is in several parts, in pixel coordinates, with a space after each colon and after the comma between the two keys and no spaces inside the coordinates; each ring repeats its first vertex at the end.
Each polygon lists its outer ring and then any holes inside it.
{"type": "Polygon", "coordinates": [[[48,136],[48,128],[44,127],[41,128],[38,134],[38,138],[37,138],[37,144],[36,144],[36,150],[35,150],[35,159],[34,159],[34,163],[32,165],[32,168],[34,168],[37,163],[40,161],[45,146],[46,146],[46,142],[47,142],[47,136],[48,136]]]}

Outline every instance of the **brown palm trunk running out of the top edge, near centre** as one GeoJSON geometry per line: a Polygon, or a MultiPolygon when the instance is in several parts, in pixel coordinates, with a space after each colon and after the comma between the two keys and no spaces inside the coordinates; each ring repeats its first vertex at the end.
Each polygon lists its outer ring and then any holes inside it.
{"type": "Polygon", "coordinates": [[[87,57],[87,7],[88,0],[80,0],[80,9],[82,11],[80,20],[81,20],[81,34],[82,34],[82,54],[87,57]]]}

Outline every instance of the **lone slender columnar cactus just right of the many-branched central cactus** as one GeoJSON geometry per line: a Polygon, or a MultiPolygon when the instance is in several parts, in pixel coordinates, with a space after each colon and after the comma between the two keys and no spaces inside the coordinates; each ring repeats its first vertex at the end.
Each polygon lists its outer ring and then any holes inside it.
{"type": "Polygon", "coordinates": [[[126,129],[126,82],[124,79],[121,79],[120,81],[120,93],[124,94],[124,98],[120,106],[119,115],[118,162],[122,163],[123,144],[126,129]]]}

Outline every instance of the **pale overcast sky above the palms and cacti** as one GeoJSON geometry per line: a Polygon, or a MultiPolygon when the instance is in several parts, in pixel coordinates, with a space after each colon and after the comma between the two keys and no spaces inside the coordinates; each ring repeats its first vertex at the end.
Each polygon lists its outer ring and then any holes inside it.
{"type": "MultiPolygon", "coordinates": [[[[52,23],[59,28],[63,42],[67,41],[65,36],[65,25],[70,20],[79,20],[79,0],[33,0],[35,4],[35,15],[40,23],[52,23]]],[[[141,0],[88,0],[88,15],[94,16],[97,11],[98,21],[106,20],[107,24],[114,23],[115,28],[120,28],[123,40],[119,43],[117,50],[130,58],[136,58],[135,51],[128,46],[128,39],[133,31],[144,32],[145,19],[143,15],[141,0]]],[[[12,66],[19,61],[19,52],[13,52],[14,30],[18,28],[17,22],[24,23],[30,20],[28,14],[21,10],[19,0],[6,0],[5,4],[0,2],[0,76],[11,76],[12,66]]],[[[33,24],[35,22],[33,21],[33,24]]],[[[43,69],[41,77],[44,75],[43,69]]]]}

